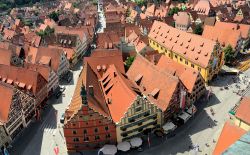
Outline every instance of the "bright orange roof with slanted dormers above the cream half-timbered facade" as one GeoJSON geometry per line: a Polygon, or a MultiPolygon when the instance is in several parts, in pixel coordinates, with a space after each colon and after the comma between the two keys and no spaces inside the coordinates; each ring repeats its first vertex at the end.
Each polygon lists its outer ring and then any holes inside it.
{"type": "Polygon", "coordinates": [[[115,65],[111,65],[100,79],[110,115],[118,123],[136,100],[139,89],[122,74],[115,65]]]}

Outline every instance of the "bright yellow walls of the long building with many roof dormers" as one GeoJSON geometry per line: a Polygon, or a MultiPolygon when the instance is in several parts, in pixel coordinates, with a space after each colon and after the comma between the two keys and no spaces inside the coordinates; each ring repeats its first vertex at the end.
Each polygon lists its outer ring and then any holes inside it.
{"type": "MultiPolygon", "coordinates": [[[[157,42],[153,41],[151,38],[149,38],[149,45],[154,50],[157,50],[159,53],[163,53],[164,55],[166,55],[167,57],[173,59],[174,61],[176,61],[176,62],[178,62],[178,63],[180,63],[182,65],[192,67],[195,70],[199,71],[206,83],[211,81],[214,75],[218,74],[218,72],[221,69],[222,64],[223,64],[222,63],[223,56],[218,55],[217,52],[215,52],[215,50],[214,50],[214,52],[212,54],[213,57],[211,57],[211,60],[213,60],[213,58],[218,58],[219,63],[215,67],[215,69],[212,69],[212,63],[209,63],[209,66],[204,68],[204,67],[200,66],[199,64],[191,62],[190,60],[186,59],[182,55],[179,55],[178,53],[175,53],[175,52],[161,46],[157,42]]],[[[217,48],[219,48],[219,45],[218,45],[217,48]]]]}

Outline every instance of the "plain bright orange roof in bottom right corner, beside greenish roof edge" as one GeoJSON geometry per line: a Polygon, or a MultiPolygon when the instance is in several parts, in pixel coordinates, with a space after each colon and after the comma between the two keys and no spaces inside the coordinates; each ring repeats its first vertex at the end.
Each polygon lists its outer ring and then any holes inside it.
{"type": "Polygon", "coordinates": [[[236,142],[245,133],[246,131],[240,127],[231,122],[226,122],[215,146],[213,155],[221,155],[230,145],[236,142]]]}

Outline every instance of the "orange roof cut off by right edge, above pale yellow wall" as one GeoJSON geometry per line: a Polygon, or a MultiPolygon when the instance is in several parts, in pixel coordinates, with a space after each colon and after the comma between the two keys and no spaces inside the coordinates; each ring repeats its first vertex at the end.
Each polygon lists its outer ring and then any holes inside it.
{"type": "Polygon", "coordinates": [[[240,101],[235,116],[250,125],[250,98],[244,97],[240,101]]]}

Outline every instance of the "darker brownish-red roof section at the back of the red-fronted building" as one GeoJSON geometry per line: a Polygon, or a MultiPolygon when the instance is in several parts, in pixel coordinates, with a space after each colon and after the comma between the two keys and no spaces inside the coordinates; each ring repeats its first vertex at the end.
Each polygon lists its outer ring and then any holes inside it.
{"type": "Polygon", "coordinates": [[[84,62],[88,63],[98,78],[114,64],[119,71],[125,73],[122,53],[119,50],[97,49],[92,52],[90,57],[84,57],[84,62]]]}

